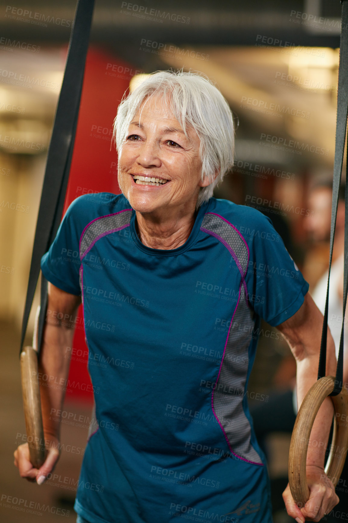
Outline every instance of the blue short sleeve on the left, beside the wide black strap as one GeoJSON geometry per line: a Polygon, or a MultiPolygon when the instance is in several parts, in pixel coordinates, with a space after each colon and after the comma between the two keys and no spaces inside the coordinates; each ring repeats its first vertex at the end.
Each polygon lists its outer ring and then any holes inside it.
{"type": "Polygon", "coordinates": [[[79,238],[82,234],[79,198],[67,209],[56,237],[41,258],[43,276],[56,287],[71,294],[81,293],[79,286],[79,238]]]}

